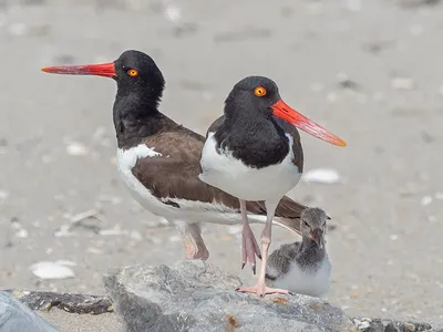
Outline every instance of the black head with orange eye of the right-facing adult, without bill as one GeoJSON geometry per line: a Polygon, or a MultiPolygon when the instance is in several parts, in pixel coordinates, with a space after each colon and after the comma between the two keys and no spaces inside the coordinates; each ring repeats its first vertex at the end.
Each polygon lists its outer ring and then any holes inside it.
{"type": "Polygon", "coordinates": [[[255,113],[270,117],[274,113],[272,105],[280,100],[277,84],[265,76],[248,76],[234,85],[225,101],[226,116],[241,113],[255,113]]]}

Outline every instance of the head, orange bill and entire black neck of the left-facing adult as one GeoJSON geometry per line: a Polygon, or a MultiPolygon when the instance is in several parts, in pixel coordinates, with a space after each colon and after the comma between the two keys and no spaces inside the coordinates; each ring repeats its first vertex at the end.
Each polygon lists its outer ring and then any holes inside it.
{"type": "Polygon", "coordinates": [[[101,64],[44,68],[56,74],[97,75],[114,79],[117,94],[113,107],[119,147],[140,144],[143,137],[158,131],[158,112],[165,80],[154,60],[138,51],[125,51],[117,60],[101,64]]]}

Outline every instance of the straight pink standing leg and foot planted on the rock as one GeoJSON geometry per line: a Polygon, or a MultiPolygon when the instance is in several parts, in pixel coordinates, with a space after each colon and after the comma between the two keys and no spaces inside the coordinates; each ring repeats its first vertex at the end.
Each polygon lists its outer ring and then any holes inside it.
{"type": "Polygon", "coordinates": [[[261,234],[260,242],[261,242],[261,250],[262,250],[262,260],[261,260],[261,269],[260,274],[258,276],[258,282],[256,286],[253,287],[240,287],[237,289],[238,292],[244,293],[256,293],[259,297],[265,297],[265,294],[289,294],[289,291],[286,289],[278,289],[278,288],[269,288],[265,284],[265,276],[266,276],[266,264],[268,261],[268,253],[269,253],[269,246],[271,239],[271,228],[272,228],[272,219],[277,208],[277,204],[271,204],[266,201],[266,210],[268,212],[268,217],[266,220],[265,229],[261,234]]]}

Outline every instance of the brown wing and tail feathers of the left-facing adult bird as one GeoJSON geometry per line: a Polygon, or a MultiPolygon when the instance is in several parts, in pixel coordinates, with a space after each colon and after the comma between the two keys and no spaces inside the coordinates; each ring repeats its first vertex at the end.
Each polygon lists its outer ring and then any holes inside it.
{"type": "MultiPolygon", "coordinates": [[[[163,156],[138,159],[133,168],[133,174],[165,204],[168,204],[167,198],[181,198],[216,203],[220,206],[222,212],[224,210],[231,212],[233,209],[239,212],[240,206],[236,197],[209,186],[198,178],[204,139],[202,135],[185,127],[158,133],[144,143],[163,156]]],[[[178,205],[173,201],[169,204],[178,205]]],[[[306,206],[289,197],[284,197],[276,211],[276,217],[279,217],[276,218],[276,224],[298,232],[299,217],[305,208],[306,206]]],[[[248,201],[247,210],[255,215],[266,215],[264,201],[248,201]]]]}

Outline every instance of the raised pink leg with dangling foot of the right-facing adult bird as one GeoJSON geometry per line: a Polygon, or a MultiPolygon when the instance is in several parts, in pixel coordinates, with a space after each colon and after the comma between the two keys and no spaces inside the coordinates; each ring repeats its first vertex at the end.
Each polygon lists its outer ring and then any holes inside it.
{"type": "Polygon", "coordinates": [[[254,232],[249,226],[248,214],[246,211],[246,200],[239,199],[239,201],[240,201],[240,211],[241,211],[241,219],[243,219],[243,232],[241,232],[243,264],[241,264],[241,269],[245,268],[245,264],[249,260],[249,263],[253,267],[253,272],[255,274],[256,273],[256,255],[259,259],[261,259],[260,248],[258,247],[256,237],[254,236],[254,232]]]}

